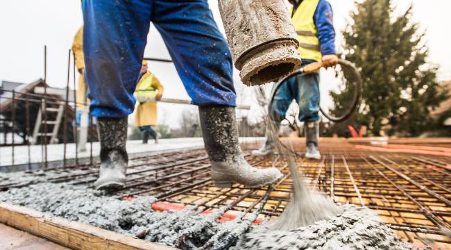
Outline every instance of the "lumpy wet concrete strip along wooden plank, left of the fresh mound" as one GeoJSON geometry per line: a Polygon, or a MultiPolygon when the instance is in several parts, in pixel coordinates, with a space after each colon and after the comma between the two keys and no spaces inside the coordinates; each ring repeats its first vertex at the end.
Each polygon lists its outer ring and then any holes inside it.
{"type": "Polygon", "coordinates": [[[230,231],[227,228],[235,228],[242,223],[219,223],[213,219],[218,213],[199,215],[189,209],[155,212],[151,209],[154,201],[154,197],[124,201],[101,191],[54,183],[39,183],[0,192],[0,202],[26,206],[126,235],[140,233],[140,238],[144,240],[173,247],[177,246],[180,235],[192,232],[190,244],[185,249],[202,247],[218,231],[230,231]]]}

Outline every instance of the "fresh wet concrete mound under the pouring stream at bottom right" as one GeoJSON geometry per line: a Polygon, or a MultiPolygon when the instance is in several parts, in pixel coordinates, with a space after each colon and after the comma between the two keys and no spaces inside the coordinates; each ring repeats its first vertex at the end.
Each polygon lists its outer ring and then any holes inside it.
{"type": "Polygon", "coordinates": [[[368,208],[346,205],[341,209],[337,217],[289,231],[255,228],[232,249],[418,249],[402,242],[368,208]]]}

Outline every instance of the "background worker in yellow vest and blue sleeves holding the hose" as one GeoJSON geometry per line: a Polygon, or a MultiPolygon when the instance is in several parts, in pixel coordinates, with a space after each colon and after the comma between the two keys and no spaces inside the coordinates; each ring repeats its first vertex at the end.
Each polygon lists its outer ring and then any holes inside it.
{"type": "MultiPolygon", "coordinates": [[[[301,67],[315,62],[322,62],[326,68],[337,65],[339,59],[335,55],[335,31],[330,3],[326,0],[290,0],[290,3],[293,4],[291,20],[298,33],[298,51],[303,62],[301,67]]],[[[254,156],[266,156],[274,151],[280,122],[285,118],[291,102],[296,100],[299,105],[298,118],[304,122],[305,157],[321,158],[318,150],[318,83],[319,74],[313,73],[292,76],[273,87],[273,101],[268,106],[271,124],[266,127],[265,144],[252,152],[254,156]]]]}

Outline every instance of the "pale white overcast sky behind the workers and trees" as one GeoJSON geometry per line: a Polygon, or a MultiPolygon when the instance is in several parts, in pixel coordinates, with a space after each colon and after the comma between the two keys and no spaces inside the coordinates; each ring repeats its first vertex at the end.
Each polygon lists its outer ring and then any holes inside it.
{"type": "MultiPolygon", "coordinates": [[[[353,0],[329,0],[334,9],[334,24],[337,33],[348,22],[349,12],[354,8],[353,0]]],[[[221,27],[221,17],[217,1],[210,0],[216,22],[221,27]]],[[[449,28],[450,0],[393,0],[397,11],[406,10],[414,5],[414,21],[427,32],[427,44],[430,49],[429,62],[439,65],[439,79],[451,80],[451,29],[449,28]]],[[[61,0],[14,0],[0,1],[0,81],[29,83],[44,75],[43,47],[48,47],[47,81],[54,87],[64,88],[67,78],[67,51],[71,47],[74,35],[83,24],[80,1],[61,0]]],[[[337,38],[337,42],[341,42],[337,38]]],[[[164,42],[154,27],[148,35],[145,56],[169,58],[164,42]]],[[[150,63],[149,69],[162,81],[165,97],[187,99],[176,70],[170,63],[150,63]]],[[[253,93],[239,83],[236,87],[239,97],[253,93]]],[[[73,84],[73,83],[71,83],[73,84]]],[[[330,104],[327,90],[330,85],[321,84],[324,106],[330,104]]],[[[249,98],[244,98],[249,102],[249,98]]],[[[158,117],[160,122],[176,125],[177,114],[185,106],[160,104],[158,117]],[[164,115],[171,113],[171,115],[164,115]]]]}

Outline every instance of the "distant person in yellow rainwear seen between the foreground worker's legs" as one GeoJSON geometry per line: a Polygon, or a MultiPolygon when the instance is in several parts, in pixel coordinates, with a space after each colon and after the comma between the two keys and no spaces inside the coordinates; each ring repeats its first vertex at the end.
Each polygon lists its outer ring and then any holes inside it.
{"type": "Polygon", "coordinates": [[[160,134],[152,128],[152,126],[157,125],[157,103],[146,99],[160,101],[163,96],[163,86],[158,81],[158,78],[147,69],[147,60],[143,60],[141,72],[139,72],[139,82],[135,93],[133,93],[138,101],[135,113],[135,126],[139,128],[139,131],[143,132],[143,144],[147,144],[149,136],[152,136],[155,143],[158,143],[160,138],[160,134]]]}

